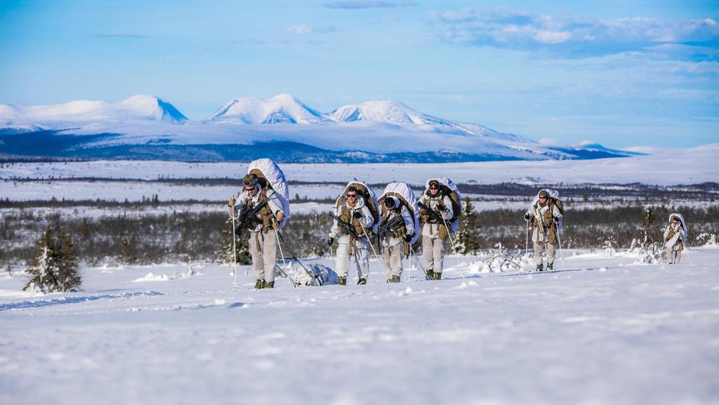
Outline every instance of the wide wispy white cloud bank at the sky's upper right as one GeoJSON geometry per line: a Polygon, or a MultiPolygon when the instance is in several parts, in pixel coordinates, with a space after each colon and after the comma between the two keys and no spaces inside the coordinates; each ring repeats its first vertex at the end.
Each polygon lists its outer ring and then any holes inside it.
{"type": "Polygon", "coordinates": [[[495,7],[433,12],[442,40],[457,45],[508,47],[593,56],[667,44],[716,48],[719,23],[704,19],[554,17],[495,7]]]}

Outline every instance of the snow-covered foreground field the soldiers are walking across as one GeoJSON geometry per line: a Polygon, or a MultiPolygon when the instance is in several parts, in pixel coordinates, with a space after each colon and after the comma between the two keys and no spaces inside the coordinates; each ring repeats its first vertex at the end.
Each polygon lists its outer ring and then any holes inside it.
{"type": "Polygon", "coordinates": [[[549,273],[480,260],[261,291],[207,263],[83,268],[83,292],[48,296],[3,275],[0,403],[719,402],[719,247],[679,265],[565,251],[549,273]]]}

